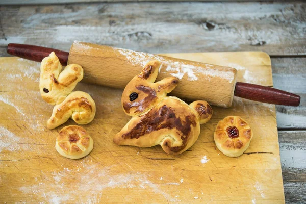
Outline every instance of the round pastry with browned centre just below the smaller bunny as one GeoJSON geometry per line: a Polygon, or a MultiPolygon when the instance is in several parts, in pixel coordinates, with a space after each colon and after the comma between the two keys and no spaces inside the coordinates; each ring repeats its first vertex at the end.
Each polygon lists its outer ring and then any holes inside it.
{"type": "Polygon", "coordinates": [[[93,149],[93,139],[83,127],[69,125],[60,131],[60,135],[56,138],[55,148],[64,157],[80,159],[93,149]]]}

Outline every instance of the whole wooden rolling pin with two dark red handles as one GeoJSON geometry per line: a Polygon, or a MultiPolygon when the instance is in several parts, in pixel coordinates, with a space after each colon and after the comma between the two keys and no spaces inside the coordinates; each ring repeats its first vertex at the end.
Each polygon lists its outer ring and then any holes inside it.
{"type": "Polygon", "coordinates": [[[180,80],[171,95],[187,100],[206,100],[221,107],[231,107],[238,96],[263,103],[298,106],[300,96],[255,84],[236,82],[237,70],[230,67],[135,52],[104,45],[74,41],[70,52],[58,49],[8,44],[7,52],[41,62],[54,51],[62,65],[79,64],[84,68],[84,81],[91,84],[124,88],[150,60],[162,62],[157,81],[171,75],[180,80]]]}

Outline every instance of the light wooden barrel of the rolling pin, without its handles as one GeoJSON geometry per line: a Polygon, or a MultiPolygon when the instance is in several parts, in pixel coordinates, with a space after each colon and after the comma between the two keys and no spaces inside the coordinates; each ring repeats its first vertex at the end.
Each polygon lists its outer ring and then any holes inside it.
{"type": "Polygon", "coordinates": [[[81,65],[87,83],[123,89],[151,60],[162,62],[157,81],[170,76],[180,79],[171,95],[222,107],[232,105],[237,75],[234,68],[79,41],[71,46],[68,64],[81,65]]]}

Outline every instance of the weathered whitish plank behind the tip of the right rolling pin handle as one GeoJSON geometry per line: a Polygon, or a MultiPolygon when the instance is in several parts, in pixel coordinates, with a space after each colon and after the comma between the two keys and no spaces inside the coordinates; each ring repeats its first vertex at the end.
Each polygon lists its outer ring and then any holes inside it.
{"type": "Polygon", "coordinates": [[[276,106],[278,129],[306,127],[306,58],[272,58],[275,88],[301,96],[299,107],[276,106]]]}

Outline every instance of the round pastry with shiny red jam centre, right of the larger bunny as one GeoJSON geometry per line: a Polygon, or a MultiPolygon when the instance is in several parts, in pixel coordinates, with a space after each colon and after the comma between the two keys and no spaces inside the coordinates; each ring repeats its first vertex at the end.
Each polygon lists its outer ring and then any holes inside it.
{"type": "Polygon", "coordinates": [[[228,157],[239,157],[253,137],[251,127],[239,116],[227,116],[218,122],[214,140],[218,149],[228,157]]]}

